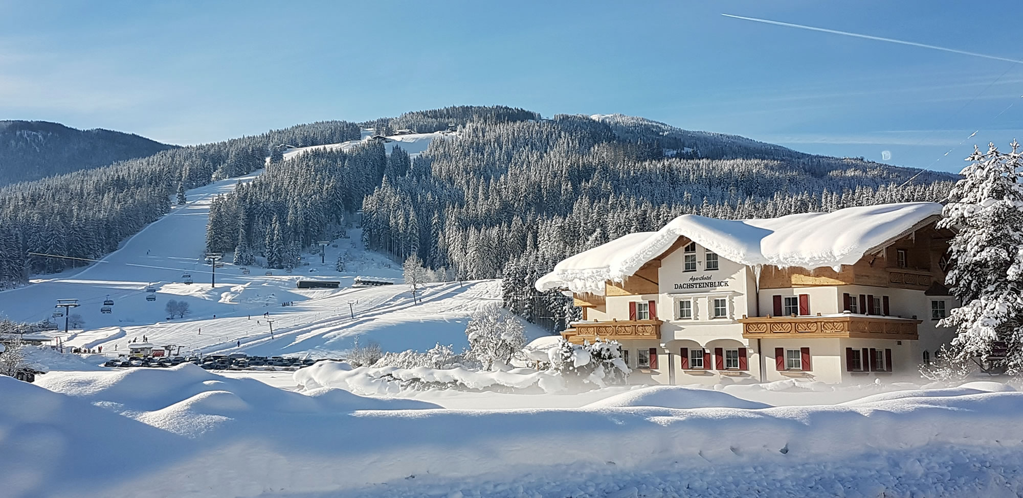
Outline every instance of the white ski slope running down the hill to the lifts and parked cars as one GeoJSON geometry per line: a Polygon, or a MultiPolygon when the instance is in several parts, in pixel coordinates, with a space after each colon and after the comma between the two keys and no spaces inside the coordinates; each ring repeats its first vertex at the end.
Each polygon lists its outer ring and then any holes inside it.
{"type": "MultiPolygon", "coordinates": [[[[60,330],[48,335],[71,347],[102,347],[103,353],[125,353],[128,341],[141,342],[145,336],[160,346],[181,346],[182,353],[339,357],[356,337],[385,351],[425,350],[437,343],[460,348],[468,345],[468,318],[483,306],[500,303],[499,281],[428,284],[417,302],[406,285],[351,288],[358,276],[397,282],[402,277],[400,263],[363,247],[360,229],[331,241],[322,258],[303,254],[302,265],[292,273],[273,269],[268,276],[265,268],[252,266],[243,275],[226,254],[211,287],[212,268],[202,259],[211,200],[258,175],[188,191],[185,205],[175,206],[101,262],[0,293],[0,313],[38,321],[51,317],[56,299],[78,299],[73,313],[82,315],[85,330],[65,333],[63,318],[51,318],[60,330]],[[337,271],[342,253],[347,269],[337,271]],[[192,284],[184,283],[185,273],[192,284]],[[299,280],[338,281],[341,288],[300,290],[299,280]],[[155,301],[146,300],[150,285],[155,301]],[[100,312],[107,296],[115,302],[108,314],[100,312]],[[190,313],[169,319],[171,299],[187,302],[190,313]]],[[[530,339],[545,334],[527,331],[530,339]]]]}

